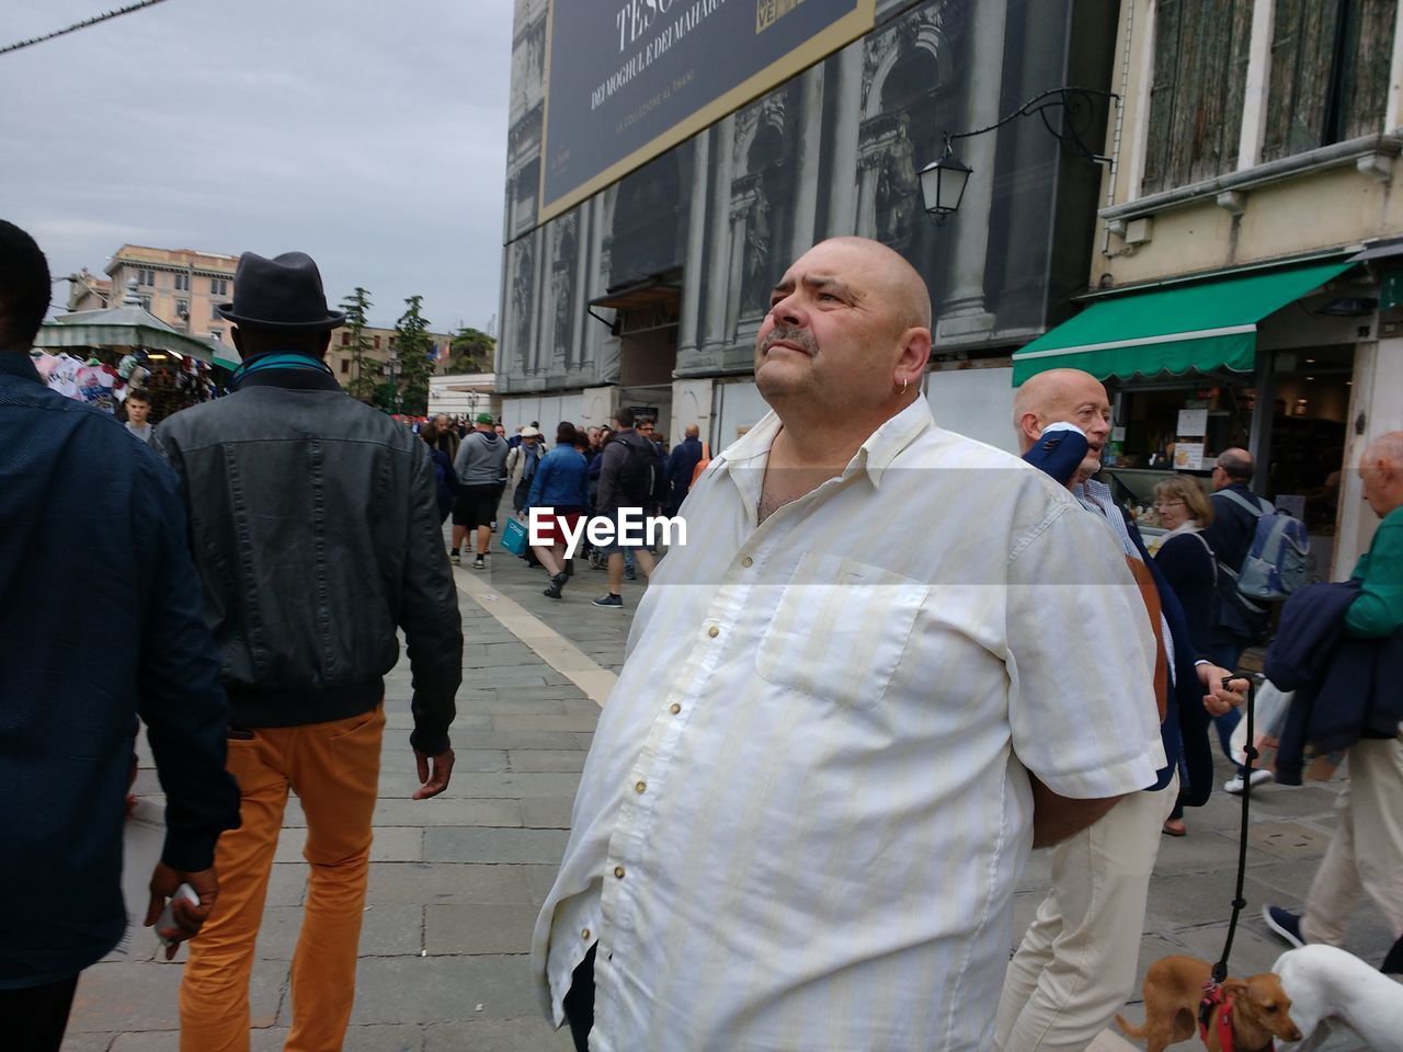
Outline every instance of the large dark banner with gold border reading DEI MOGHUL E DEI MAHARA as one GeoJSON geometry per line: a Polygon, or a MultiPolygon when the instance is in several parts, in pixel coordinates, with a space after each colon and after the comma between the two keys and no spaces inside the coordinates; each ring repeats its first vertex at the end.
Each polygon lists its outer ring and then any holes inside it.
{"type": "Polygon", "coordinates": [[[546,222],[873,28],[877,0],[551,0],[546,222]]]}

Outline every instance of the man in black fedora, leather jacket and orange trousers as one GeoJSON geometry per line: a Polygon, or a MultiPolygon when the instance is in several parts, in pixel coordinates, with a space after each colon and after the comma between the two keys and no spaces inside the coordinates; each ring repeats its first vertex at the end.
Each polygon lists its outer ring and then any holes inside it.
{"type": "Polygon", "coordinates": [[[206,621],[229,693],[229,770],[243,826],[216,849],[220,908],[181,985],[181,1049],[248,1048],[248,976],[288,791],[311,867],[292,959],[289,1048],[341,1048],[384,728],[383,676],[403,628],[414,672],[419,788],[442,793],[463,633],[439,534],[428,446],[347,396],[325,365],[331,330],[310,257],[244,252],[233,303],[243,365],[231,394],[166,419],[206,621]]]}

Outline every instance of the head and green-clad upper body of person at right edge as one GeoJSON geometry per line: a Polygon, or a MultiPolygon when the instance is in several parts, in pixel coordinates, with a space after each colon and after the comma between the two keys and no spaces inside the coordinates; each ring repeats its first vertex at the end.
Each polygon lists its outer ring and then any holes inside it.
{"type": "Polygon", "coordinates": [[[1344,616],[1351,635],[1379,638],[1403,628],[1403,431],[1376,438],[1360,459],[1364,499],[1382,519],[1352,578],[1360,598],[1344,616]]]}

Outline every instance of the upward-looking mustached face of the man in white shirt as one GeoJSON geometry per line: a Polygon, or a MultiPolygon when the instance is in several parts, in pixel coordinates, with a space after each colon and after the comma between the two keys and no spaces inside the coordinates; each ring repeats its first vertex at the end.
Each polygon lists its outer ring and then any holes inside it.
{"type": "Polygon", "coordinates": [[[891,396],[905,328],[882,295],[884,278],[871,252],[832,241],[786,271],[755,339],[755,383],[766,401],[804,397],[843,415],[891,396]]]}

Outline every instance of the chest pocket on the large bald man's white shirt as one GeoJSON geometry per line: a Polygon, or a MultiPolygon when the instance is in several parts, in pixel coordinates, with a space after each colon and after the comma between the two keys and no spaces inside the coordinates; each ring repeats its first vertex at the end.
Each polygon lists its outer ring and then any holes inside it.
{"type": "Polygon", "coordinates": [[[755,656],[780,686],[854,708],[887,693],[930,586],[838,555],[804,555],[755,656]]]}

